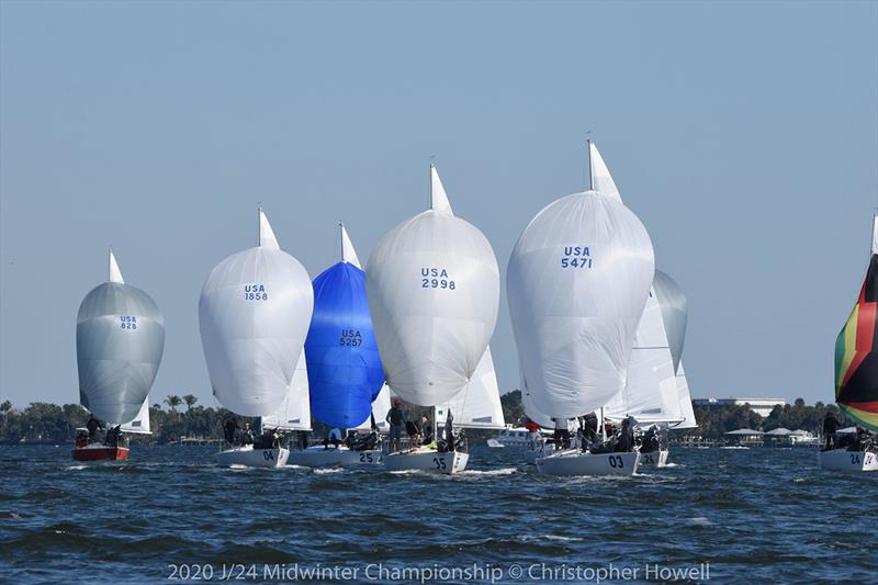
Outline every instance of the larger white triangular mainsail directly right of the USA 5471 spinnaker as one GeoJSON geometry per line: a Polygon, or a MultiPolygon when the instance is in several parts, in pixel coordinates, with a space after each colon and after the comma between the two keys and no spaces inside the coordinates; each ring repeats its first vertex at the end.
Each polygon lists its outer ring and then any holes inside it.
{"type": "Polygon", "coordinates": [[[677,423],[683,419],[674,360],[665,335],[662,310],[651,290],[634,335],[624,389],[604,407],[604,416],[638,423],[677,423]]]}

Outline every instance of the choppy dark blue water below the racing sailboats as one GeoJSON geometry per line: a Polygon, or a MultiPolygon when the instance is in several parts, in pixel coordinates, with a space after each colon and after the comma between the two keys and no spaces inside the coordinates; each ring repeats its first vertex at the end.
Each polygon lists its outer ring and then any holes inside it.
{"type": "Polygon", "coordinates": [[[822,472],[811,450],[674,449],[673,466],[628,479],[540,476],[486,447],[458,476],[227,470],[214,452],[136,447],[87,465],[66,446],[4,448],[0,582],[161,582],[203,565],[214,581],[317,581],[296,563],[367,583],[594,582],[610,563],[629,570],[615,581],[668,576],[655,565],[718,583],[876,578],[878,474],[822,472]]]}

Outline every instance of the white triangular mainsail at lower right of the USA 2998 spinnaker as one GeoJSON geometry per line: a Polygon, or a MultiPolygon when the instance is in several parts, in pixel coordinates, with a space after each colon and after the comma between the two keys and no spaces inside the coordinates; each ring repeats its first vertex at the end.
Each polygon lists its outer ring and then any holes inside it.
{"type": "Polygon", "coordinates": [[[485,349],[470,383],[442,405],[436,407],[436,423],[444,425],[451,410],[455,427],[502,429],[506,427],[500,391],[491,348],[485,349]]]}

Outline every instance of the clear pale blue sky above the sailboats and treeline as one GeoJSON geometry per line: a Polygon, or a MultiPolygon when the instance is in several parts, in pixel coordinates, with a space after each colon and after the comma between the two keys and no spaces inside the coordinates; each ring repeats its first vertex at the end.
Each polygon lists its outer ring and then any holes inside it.
{"type": "Polygon", "coordinates": [[[212,405],[198,301],[266,210],[316,277],[423,211],[500,266],[586,137],[689,300],[694,397],[833,400],[878,203],[878,3],[0,2],[0,398],[78,400],[106,279],[166,319],[150,402],[212,405]]]}

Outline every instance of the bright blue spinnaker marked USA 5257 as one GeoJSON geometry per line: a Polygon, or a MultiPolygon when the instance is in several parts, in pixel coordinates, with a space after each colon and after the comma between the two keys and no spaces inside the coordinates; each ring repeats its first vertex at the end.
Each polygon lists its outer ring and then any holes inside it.
{"type": "Polygon", "coordinates": [[[311,412],[339,428],[363,423],[384,370],[369,315],[365,272],[341,261],[314,279],[314,315],[305,340],[311,412]]]}

